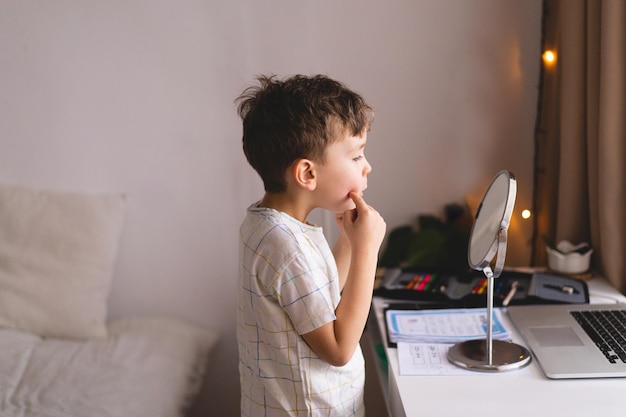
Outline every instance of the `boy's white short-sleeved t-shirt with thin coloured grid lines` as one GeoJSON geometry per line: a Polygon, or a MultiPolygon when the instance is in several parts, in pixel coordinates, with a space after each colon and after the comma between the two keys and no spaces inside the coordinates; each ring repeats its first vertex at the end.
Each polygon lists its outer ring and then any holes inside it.
{"type": "Polygon", "coordinates": [[[360,347],[336,367],[301,336],[333,321],[341,297],[322,229],[254,204],[241,225],[239,257],[241,415],[364,416],[360,347]]]}

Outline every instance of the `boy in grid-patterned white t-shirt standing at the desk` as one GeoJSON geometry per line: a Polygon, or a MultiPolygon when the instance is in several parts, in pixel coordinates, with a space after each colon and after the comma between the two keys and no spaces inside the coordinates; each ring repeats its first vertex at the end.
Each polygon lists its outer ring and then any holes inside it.
{"type": "Polygon", "coordinates": [[[364,416],[359,340],[385,222],[361,197],[373,111],[325,76],[258,78],[237,99],[265,195],[240,229],[242,416],[364,416]],[[337,213],[331,252],[315,208],[337,213]]]}

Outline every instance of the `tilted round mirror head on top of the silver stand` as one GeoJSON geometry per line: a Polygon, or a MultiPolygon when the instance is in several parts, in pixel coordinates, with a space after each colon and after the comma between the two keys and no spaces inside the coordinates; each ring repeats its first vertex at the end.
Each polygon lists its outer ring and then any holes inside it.
{"type": "Polygon", "coordinates": [[[506,231],[509,228],[517,183],[509,171],[500,171],[491,181],[476,210],[476,217],[467,248],[467,259],[473,269],[483,270],[498,252],[494,277],[502,272],[506,253],[506,231]],[[504,250],[498,250],[503,245],[504,250]]]}

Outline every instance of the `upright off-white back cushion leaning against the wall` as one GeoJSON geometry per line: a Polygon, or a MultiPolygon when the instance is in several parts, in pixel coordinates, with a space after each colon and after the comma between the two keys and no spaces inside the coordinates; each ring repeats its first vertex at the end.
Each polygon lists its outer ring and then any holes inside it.
{"type": "Polygon", "coordinates": [[[126,197],[0,185],[0,326],[105,337],[126,197]]]}

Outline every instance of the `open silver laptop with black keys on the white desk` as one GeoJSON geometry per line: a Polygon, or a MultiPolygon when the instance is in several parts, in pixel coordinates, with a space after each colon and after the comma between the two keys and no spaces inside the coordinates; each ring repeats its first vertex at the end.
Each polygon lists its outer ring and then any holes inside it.
{"type": "Polygon", "coordinates": [[[509,306],[508,314],[548,378],[626,377],[626,304],[509,306]],[[611,329],[609,341],[594,340],[611,329]]]}

